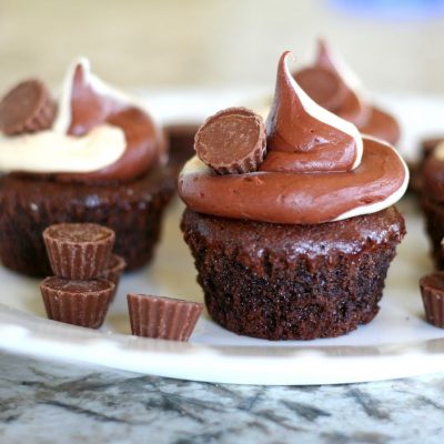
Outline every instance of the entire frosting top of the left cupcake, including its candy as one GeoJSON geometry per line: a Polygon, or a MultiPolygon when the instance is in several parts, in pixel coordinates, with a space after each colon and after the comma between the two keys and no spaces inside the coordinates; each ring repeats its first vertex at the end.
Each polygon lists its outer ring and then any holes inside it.
{"type": "Polygon", "coordinates": [[[85,59],[72,63],[58,104],[37,80],[20,83],[0,102],[4,173],[127,182],[164,162],[164,138],[151,117],[94,75],[85,59]]]}

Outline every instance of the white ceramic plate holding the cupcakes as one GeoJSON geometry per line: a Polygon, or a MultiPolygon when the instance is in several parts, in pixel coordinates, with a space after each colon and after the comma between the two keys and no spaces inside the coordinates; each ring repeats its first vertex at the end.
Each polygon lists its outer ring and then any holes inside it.
{"type": "MultiPolygon", "coordinates": [[[[206,103],[211,112],[211,97],[195,95],[194,101],[206,103]]],[[[192,102],[193,95],[190,97],[192,102]]],[[[152,102],[160,108],[162,99],[153,98],[152,102]]],[[[444,115],[444,101],[396,98],[385,104],[396,109],[402,119],[406,129],[404,147],[423,133],[438,132],[436,114],[444,115]]],[[[129,335],[128,292],[202,300],[192,259],[178,226],[182,205],[175,201],[168,211],[154,263],[122,279],[100,331],[47,320],[39,281],[0,268],[0,347],[27,355],[221,383],[335,384],[443,372],[444,331],[424,321],[417,286],[418,278],[432,268],[423,222],[414,203],[404,202],[402,210],[408,234],[390,269],[380,314],[346,336],[269,342],[230,333],[215,325],[206,313],[189,343],[129,335]]]]}

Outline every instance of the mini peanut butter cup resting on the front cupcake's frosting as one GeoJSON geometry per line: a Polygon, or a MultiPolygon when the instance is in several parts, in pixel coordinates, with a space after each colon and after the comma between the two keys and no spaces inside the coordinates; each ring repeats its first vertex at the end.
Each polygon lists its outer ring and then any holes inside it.
{"type": "Polygon", "coordinates": [[[262,118],[246,108],[210,117],[194,138],[199,159],[220,174],[256,171],[266,149],[262,118]]]}

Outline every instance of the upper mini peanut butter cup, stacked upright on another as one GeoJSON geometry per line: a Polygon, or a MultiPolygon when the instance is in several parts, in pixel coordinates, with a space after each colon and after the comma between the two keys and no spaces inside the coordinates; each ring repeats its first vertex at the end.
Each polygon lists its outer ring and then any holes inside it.
{"type": "Polygon", "coordinates": [[[54,274],[71,280],[101,276],[114,245],[114,232],[95,223],[58,223],[43,231],[54,274]]]}

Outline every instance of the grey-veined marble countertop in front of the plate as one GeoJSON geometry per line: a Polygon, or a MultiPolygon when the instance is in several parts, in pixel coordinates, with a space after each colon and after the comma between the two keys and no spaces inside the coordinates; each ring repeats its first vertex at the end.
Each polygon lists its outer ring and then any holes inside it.
{"type": "Polygon", "coordinates": [[[0,353],[0,442],[442,443],[444,374],[349,385],[196,383],[0,353]]]}

